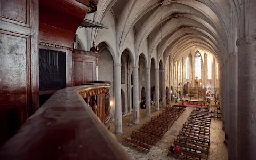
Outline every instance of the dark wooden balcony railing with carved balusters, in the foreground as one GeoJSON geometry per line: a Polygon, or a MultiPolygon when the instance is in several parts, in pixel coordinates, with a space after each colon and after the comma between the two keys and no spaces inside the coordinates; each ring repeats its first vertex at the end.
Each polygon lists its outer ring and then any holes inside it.
{"type": "Polygon", "coordinates": [[[101,123],[110,116],[110,85],[97,82],[55,92],[5,143],[1,159],[130,159],[101,123]]]}

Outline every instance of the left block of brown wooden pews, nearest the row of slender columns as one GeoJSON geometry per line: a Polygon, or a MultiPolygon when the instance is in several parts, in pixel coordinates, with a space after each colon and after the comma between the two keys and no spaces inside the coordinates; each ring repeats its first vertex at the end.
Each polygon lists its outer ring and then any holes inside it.
{"type": "Polygon", "coordinates": [[[137,132],[132,131],[131,139],[124,138],[125,143],[149,151],[170,129],[172,124],[179,118],[186,107],[165,107],[161,114],[151,118],[143,124],[137,132]]]}

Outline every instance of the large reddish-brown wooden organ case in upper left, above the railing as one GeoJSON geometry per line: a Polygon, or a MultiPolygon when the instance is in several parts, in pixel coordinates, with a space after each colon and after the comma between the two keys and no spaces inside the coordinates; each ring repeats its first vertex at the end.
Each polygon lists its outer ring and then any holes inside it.
{"type": "Polygon", "coordinates": [[[97,3],[97,0],[0,0],[0,146],[39,108],[39,97],[73,86],[75,33],[87,12],[97,10],[97,3]],[[94,6],[90,7],[91,4],[94,6]],[[39,54],[46,50],[51,53],[47,53],[48,61],[42,54],[42,65],[39,54]],[[60,61],[51,61],[49,57],[60,58],[62,68],[60,61]],[[49,81],[39,77],[40,67],[45,74],[47,70],[51,73],[47,75],[49,81]],[[55,85],[47,86],[52,79],[55,85]],[[45,82],[43,89],[39,82],[45,82]]]}

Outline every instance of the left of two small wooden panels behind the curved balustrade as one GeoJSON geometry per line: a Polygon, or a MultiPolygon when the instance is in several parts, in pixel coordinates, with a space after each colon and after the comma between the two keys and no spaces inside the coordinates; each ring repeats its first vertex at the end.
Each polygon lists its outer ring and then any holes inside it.
{"type": "Polygon", "coordinates": [[[83,84],[83,61],[73,61],[73,75],[74,75],[74,85],[82,85],[83,84]]]}

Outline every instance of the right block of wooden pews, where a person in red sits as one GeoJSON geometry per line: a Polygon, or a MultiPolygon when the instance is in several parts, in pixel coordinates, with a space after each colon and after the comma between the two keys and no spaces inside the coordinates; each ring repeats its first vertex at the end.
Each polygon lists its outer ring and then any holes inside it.
{"type": "MultiPolygon", "coordinates": [[[[210,149],[211,110],[194,108],[174,141],[183,159],[205,160],[210,149]]],[[[168,155],[171,154],[171,151],[168,155]]]]}

